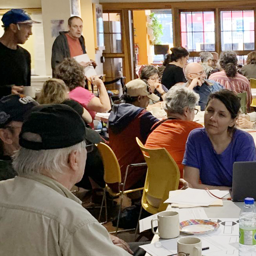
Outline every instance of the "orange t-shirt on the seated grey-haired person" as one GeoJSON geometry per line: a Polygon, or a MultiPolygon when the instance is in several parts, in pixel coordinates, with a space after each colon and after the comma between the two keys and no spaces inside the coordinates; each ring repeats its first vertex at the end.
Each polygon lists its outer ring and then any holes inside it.
{"type": "MultiPolygon", "coordinates": [[[[156,124],[157,125],[157,124],[156,124]]],[[[183,177],[183,156],[186,140],[190,131],[201,128],[202,125],[180,119],[169,119],[160,124],[149,134],[146,148],[166,148],[180,169],[180,178],[183,177]]],[[[154,128],[154,126],[152,127],[154,128]]]]}

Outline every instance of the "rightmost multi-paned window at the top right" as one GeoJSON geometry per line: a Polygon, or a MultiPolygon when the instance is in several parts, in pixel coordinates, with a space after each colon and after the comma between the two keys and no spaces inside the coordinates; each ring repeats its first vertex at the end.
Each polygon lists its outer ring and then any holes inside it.
{"type": "Polygon", "coordinates": [[[221,11],[221,50],[254,49],[254,11],[221,11]]]}

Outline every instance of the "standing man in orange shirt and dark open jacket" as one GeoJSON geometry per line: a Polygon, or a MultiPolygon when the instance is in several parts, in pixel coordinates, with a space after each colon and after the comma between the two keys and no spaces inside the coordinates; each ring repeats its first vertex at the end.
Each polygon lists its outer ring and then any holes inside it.
{"type": "MultiPolygon", "coordinates": [[[[55,67],[64,60],[86,53],[85,41],[82,36],[83,20],[78,16],[72,16],[68,19],[69,31],[61,31],[52,45],[52,76],[54,77],[55,67]]],[[[81,62],[83,67],[92,64],[96,67],[96,62],[81,62]]]]}

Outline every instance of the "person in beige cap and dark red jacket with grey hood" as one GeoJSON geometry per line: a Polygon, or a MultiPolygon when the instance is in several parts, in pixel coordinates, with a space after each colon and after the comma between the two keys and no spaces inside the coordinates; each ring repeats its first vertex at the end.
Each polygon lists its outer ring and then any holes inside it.
{"type": "MultiPolygon", "coordinates": [[[[120,165],[122,182],[126,167],[131,163],[145,162],[143,154],[136,142],[138,137],[146,142],[151,127],[159,120],[146,111],[149,99],[159,101],[159,97],[151,93],[148,82],[142,79],[129,81],[123,95],[125,103],[113,105],[110,113],[109,145],[116,154],[120,165]]],[[[146,166],[135,167],[128,173],[125,189],[143,187],[146,166]]],[[[117,189],[116,184],[109,184],[111,189],[117,189]]]]}

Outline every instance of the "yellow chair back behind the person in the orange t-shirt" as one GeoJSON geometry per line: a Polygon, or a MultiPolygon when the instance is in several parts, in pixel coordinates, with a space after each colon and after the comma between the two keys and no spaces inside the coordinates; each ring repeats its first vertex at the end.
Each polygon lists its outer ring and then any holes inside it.
{"type": "Polygon", "coordinates": [[[178,189],[180,170],[165,148],[145,148],[138,138],[136,140],[148,165],[142,206],[155,214],[166,209],[168,204],[163,202],[169,197],[169,191],[178,189]],[[148,204],[146,195],[160,199],[160,206],[156,208],[148,204]]]}

